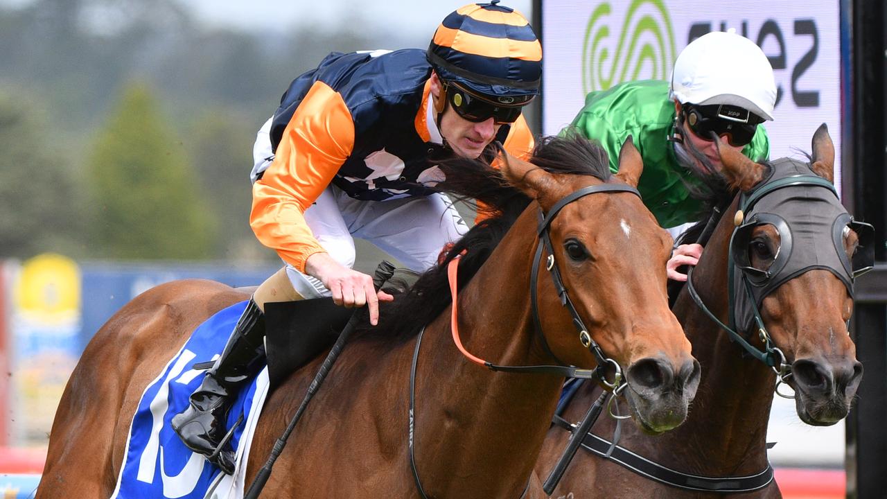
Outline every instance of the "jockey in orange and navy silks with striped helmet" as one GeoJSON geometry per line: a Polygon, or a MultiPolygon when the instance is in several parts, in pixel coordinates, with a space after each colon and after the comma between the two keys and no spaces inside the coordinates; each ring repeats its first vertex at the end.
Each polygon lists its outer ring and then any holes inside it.
{"type": "Polygon", "coordinates": [[[294,80],[256,137],[250,215],[256,237],[286,265],[255,290],[188,408],[172,418],[188,448],[233,471],[225,421],[232,393],[263,366],[265,303],[332,296],[367,305],[376,324],[379,301],[392,297],[351,268],[354,238],[425,270],[467,232],[434,189],[443,173],[432,158],[488,157],[494,140],[529,154],[521,110],[541,75],[530,23],[491,0],[447,16],[428,51],[334,53],[294,80]]]}

